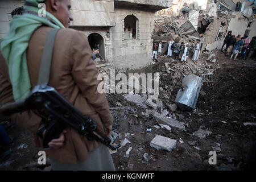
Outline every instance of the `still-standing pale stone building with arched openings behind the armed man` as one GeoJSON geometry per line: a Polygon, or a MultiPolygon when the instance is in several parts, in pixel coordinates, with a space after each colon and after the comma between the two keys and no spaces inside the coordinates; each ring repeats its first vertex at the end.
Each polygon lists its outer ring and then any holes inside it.
{"type": "MultiPolygon", "coordinates": [[[[71,28],[84,32],[91,48],[100,49],[97,64],[136,69],[150,64],[155,11],[168,0],[72,0],[71,28]]],[[[24,1],[1,1],[1,39],[9,30],[11,13],[24,1]]]]}

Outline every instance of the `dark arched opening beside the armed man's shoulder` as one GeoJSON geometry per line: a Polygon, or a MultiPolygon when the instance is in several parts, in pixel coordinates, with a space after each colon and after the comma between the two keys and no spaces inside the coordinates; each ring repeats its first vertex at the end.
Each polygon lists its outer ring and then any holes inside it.
{"type": "Polygon", "coordinates": [[[88,41],[90,44],[90,48],[99,49],[99,55],[102,60],[105,60],[105,43],[104,39],[100,34],[92,33],[88,36],[88,41]]]}

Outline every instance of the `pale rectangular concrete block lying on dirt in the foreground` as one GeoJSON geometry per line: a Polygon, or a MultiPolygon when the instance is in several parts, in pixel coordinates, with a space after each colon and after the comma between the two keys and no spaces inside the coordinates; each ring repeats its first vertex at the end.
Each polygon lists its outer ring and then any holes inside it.
{"type": "Polygon", "coordinates": [[[156,135],[150,142],[150,147],[154,147],[157,150],[172,151],[176,147],[177,141],[171,138],[156,135]]]}

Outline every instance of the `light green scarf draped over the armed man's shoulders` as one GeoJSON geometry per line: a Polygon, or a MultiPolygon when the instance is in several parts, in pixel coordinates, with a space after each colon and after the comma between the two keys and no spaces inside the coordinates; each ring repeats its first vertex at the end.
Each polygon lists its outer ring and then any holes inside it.
{"type": "MultiPolygon", "coordinates": [[[[38,16],[38,5],[44,0],[26,0],[31,6],[24,6],[23,15],[15,15],[10,22],[10,30],[1,42],[1,52],[5,57],[15,101],[24,100],[31,92],[27,67],[27,47],[34,31],[46,25],[52,28],[65,28],[52,14],[38,16]]],[[[41,12],[40,12],[41,13],[41,12]]]]}

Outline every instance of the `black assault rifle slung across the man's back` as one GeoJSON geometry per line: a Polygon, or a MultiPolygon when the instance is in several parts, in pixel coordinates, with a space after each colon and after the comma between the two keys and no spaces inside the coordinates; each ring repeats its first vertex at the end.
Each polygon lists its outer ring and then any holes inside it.
{"type": "Polygon", "coordinates": [[[48,143],[52,139],[59,138],[67,126],[72,127],[77,133],[84,135],[89,140],[100,141],[111,150],[120,147],[120,144],[112,146],[111,140],[106,137],[105,132],[98,130],[96,122],[90,116],[80,113],[76,107],[69,104],[64,97],[47,84],[35,86],[30,96],[24,101],[8,103],[0,107],[0,113],[3,115],[11,115],[26,110],[35,110],[47,123],[46,133],[43,137],[44,149],[50,148],[48,143]]]}

